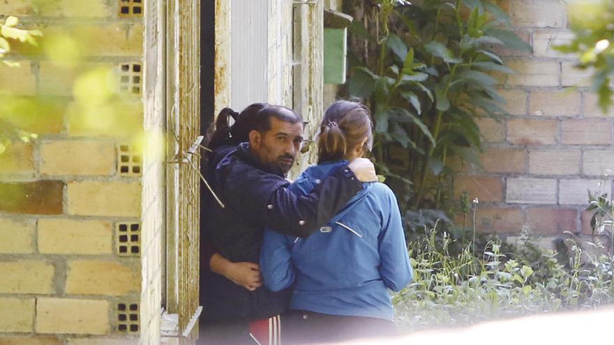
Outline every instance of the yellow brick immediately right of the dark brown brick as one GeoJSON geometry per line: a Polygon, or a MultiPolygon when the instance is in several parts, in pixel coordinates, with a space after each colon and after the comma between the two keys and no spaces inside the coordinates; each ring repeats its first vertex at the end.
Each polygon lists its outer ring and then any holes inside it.
{"type": "Polygon", "coordinates": [[[68,183],[68,214],[138,217],[141,185],[126,182],[68,183]]]}

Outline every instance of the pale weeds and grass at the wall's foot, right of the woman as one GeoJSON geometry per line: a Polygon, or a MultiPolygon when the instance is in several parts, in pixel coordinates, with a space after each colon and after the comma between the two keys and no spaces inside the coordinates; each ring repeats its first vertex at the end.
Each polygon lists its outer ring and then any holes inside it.
{"type": "Polygon", "coordinates": [[[571,257],[560,260],[525,231],[512,252],[491,241],[481,254],[469,245],[454,255],[450,236],[435,236],[433,229],[412,246],[414,282],[394,298],[397,322],[406,330],[614,302],[612,255],[591,257],[574,246],[571,257]]]}

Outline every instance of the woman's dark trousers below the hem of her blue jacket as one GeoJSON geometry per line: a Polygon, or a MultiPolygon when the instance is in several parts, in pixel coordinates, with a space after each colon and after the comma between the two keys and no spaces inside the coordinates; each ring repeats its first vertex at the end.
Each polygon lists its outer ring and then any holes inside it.
{"type": "Polygon", "coordinates": [[[281,317],[283,345],[344,342],[398,335],[392,321],[290,310],[281,317]]]}

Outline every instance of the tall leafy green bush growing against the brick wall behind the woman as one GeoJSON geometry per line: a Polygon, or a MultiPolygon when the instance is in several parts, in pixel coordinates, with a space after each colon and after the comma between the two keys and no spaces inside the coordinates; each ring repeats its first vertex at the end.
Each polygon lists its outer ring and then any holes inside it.
{"type": "Polygon", "coordinates": [[[370,105],[376,164],[402,208],[447,209],[450,159],[479,164],[477,119],[505,114],[493,74],[512,70],[495,48],[530,46],[493,1],[375,2],[350,1],[377,16],[350,26],[347,93],[370,105]]]}

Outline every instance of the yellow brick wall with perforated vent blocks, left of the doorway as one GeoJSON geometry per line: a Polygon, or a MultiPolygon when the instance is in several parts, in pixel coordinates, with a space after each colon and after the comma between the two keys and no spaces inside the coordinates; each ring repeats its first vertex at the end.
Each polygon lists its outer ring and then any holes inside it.
{"type": "Polygon", "coordinates": [[[143,122],[143,10],[141,1],[0,1],[0,20],[16,15],[45,35],[38,47],[13,45],[7,58],[20,67],[0,64],[11,94],[1,102],[14,105],[3,116],[39,135],[0,155],[0,344],[137,342],[141,279],[159,276],[142,265],[153,240],[142,208],[162,202],[142,201],[159,193],[142,178],[158,183],[161,159],[143,164],[131,136],[143,122]],[[117,94],[96,103],[101,75],[117,94]]]}

